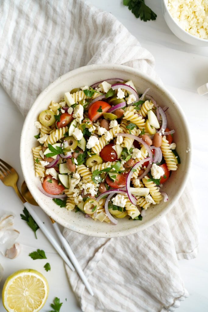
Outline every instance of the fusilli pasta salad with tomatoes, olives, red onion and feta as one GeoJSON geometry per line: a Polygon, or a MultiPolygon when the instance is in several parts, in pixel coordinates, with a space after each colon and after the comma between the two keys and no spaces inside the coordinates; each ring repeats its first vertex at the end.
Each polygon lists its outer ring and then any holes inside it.
{"type": "Polygon", "coordinates": [[[167,128],[167,107],[138,95],[132,80],[108,79],[64,94],[35,122],[32,148],[40,190],[86,218],[117,224],[142,220],[167,201],[162,184],[180,158],[167,128]]]}

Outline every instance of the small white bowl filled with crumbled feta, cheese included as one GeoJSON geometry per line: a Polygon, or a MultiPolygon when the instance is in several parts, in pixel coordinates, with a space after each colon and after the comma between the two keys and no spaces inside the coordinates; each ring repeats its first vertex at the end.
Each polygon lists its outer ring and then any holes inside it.
{"type": "Polygon", "coordinates": [[[162,12],[179,39],[195,46],[208,46],[207,0],[162,0],[162,12]]]}

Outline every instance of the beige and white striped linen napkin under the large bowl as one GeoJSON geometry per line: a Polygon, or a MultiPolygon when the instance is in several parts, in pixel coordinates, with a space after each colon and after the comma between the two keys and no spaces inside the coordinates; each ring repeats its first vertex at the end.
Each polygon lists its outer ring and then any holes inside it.
{"type": "MultiPolygon", "coordinates": [[[[83,65],[123,64],[159,79],[153,56],[136,38],[83,0],[2,1],[0,18],[0,82],[23,115],[49,83],[83,65]]],[[[166,217],[138,234],[106,239],[64,230],[94,291],[90,296],[67,268],[83,311],[164,312],[180,305],[188,293],[178,259],[193,259],[198,247],[192,194],[188,185],[166,217]]]]}

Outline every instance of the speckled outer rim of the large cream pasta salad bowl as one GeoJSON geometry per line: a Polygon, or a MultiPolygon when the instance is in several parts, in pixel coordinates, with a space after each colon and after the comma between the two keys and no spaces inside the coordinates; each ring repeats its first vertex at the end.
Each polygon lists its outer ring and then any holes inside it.
{"type": "Polygon", "coordinates": [[[58,222],[60,225],[62,225],[63,227],[66,227],[74,232],[80,233],[80,234],[84,234],[84,235],[88,235],[88,236],[95,236],[95,237],[120,237],[120,236],[126,236],[126,235],[130,235],[130,234],[135,234],[139,231],[142,231],[148,227],[150,227],[151,225],[153,225],[155,222],[157,222],[158,220],[160,220],[162,217],[164,217],[167,212],[169,212],[171,210],[171,208],[174,206],[175,202],[178,201],[178,199],[181,197],[183,190],[186,186],[186,183],[188,181],[188,177],[189,177],[189,172],[190,172],[190,168],[191,168],[191,158],[192,158],[192,148],[191,148],[191,135],[190,135],[190,131],[189,131],[189,127],[186,121],[186,116],[183,112],[183,110],[181,109],[180,105],[178,104],[177,100],[173,97],[173,95],[160,83],[156,82],[154,79],[150,78],[149,76],[147,76],[146,74],[144,74],[143,72],[133,69],[129,66],[124,66],[124,65],[114,65],[114,64],[95,64],[95,65],[88,65],[88,66],[83,66],[83,67],[79,67],[75,70],[72,70],[62,76],[60,76],[59,78],[57,78],[56,80],[54,80],[45,90],[43,90],[40,95],[38,95],[38,97],[36,98],[35,102],[33,103],[33,105],[31,106],[31,109],[29,110],[25,122],[23,124],[23,128],[22,128],[22,133],[21,133],[21,140],[20,140],[20,162],[21,162],[21,167],[22,167],[22,172],[23,172],[23,176],[25,178],[25,182],[28,185],[28,188],[32,194],[32,196],[34,197],[34,199],[36,200],[36,202],[39,204],[39,206],[43,209],[43,211],[46,212],[47,215],[49,215],[51,218],[53,218],[56,222],[58,222]],[[27,131],[27,121],[28,119],[31,119],[31,109],[36,106],[36,103],[41,101],[41,98],[44,97],[45,93],[51,92],[51,90],[56,86],[59,85],[60,83],[63,83],[65,80],[68,80],[69,77],[73,77],[74,75],[79,74],[80,72],[87,72],[87,71],[92,71],[92,70],[104,70],[104,69],[108,69],[108,70],[118,70],[118,71],[128,71],[129,73],[131,73],[132,75],[136,75],[139,76],[142,79],[148,80],[150,83],[152,83],[153,85],[155,85],[155,87],[161,92],[161,93],[165,93],[166,96],[171,100],[172,103],[174,103],[174,105],[177,107],[177,110],[179,111],[180,115],[182,116],[182,120],[183,120],[183,127],[186,130],[187,133],[187,142],[188,142],[188,146],[190,147],[190,152],[187,153],[187,158],[186,158],[186,174],[184,174],[182,181],[180,182],[180,189],[178,190],[177,194],[175,195],[175,197],[173,198],[172,202],[170,202],[168,204],[167,202],[167,206],[164,207],[164,209],[155,217],[153,217],[151,220],[148,220],[147,222],[144,222],[143,224],[139,225],[138,227],[135,228],[128,228],[119,232],[95,232],[93,230],[89,230],[89,229],[85,229],[83,227],[76,227],[75,225],[73,225],[72,223],[70,224],[69,222],[66,222],[63,218],[60,218],[59,216],[56,215],[56,213],[54,213],[53,211],[51,211],[49,209],[49,207],[45,207],[44,203],[42,203],[39,198],[38,198],[38,193],[33,192],[33,188],[30,188],[30,181],[29,181],[29,174],[27,172],[27,166],[25,164],[25,153],[24,153],[24,146],[25,146],[25,142],[24,142],[24,133],[27,131]]]}

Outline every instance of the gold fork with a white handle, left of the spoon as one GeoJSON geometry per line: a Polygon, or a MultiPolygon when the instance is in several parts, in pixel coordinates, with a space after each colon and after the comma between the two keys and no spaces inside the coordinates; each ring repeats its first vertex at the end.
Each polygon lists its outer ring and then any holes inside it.
{"type": "Polygon", "coordinates": [[[61,258],[65,261],[65,263],[70,267],[72,271],[75,271],[74,266],[69,261],[69,258],[65,255],[64,251],[61,249],[57,241],[54,239],[54,237],[51,235],[51,233],[48,231],[47,227],[44,225],[44,223],[41,221],[41,219],[38,217],[36,212],[33,210],[32,206],[26,202],[24,197],[22,197],[22,194],[17,188],[17,181],[18,181],[18,174],[17,171],[12,168],[8,163],[0,159],[0,179],[6,186],[11,186],[14,188],[15,192],[17,193],[18,197],[23,202],[24,206],[27,208],[33,219],[36,221],[37,225],[40,227],[41,231],[45,234],[47,239],[51,242],[52,246],[56,249],[56,251],[59,253],[61,258]]]}

